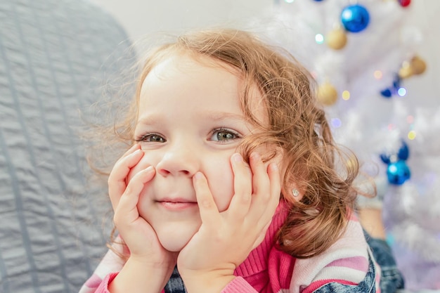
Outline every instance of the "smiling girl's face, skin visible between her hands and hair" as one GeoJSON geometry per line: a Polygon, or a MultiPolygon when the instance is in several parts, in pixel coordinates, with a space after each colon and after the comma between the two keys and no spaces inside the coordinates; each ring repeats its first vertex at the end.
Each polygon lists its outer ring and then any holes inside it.
{"type": "MultiPolygon", "coordinates": [[[[138,210],[162,246],[178,252],[201,225],[192,177],[201,171],[219,211],[234,194],[230,158],[242,137],[257,132],[240,108],[242,80],[216,61],[174,56],[153,68],[142,85],[135,139],[145,155],[129,174],[152,165],[138,210]]],[[[254,115],[267,117],[261,94],[252,98],[254,115]]]]}

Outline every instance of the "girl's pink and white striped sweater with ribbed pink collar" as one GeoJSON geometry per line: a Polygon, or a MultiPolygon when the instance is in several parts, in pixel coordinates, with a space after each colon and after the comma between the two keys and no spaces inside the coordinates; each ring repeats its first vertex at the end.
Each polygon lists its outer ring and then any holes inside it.
{"type": "MultiPolygon", "coordinates": [[[[355,217],[350,219],[344,235],[326,252],[309,259],[295,259],[274,246],[276,231],[286,216],[287,211],[280,205],[264,241],[235,269],[237,278],[223,289],[224,293],[309,293],[331,282],[357,285],[365,278],[369,258],[373,256],[355,217]]],[[[124,260],[109,250],[79,293],[107,293],[108,284],[122,266],[124,260]]],[[[376,264],[375,268],[376,292],[380,292],[380,268],[376,264]]]]}

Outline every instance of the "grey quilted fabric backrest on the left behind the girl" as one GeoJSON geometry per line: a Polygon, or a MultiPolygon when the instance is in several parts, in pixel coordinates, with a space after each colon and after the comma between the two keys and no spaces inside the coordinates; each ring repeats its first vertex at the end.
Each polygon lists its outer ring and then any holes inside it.
{"type": "Polygon", "coordinates": [[[0,292],[77,292],[106,251],[79,110],[129,66],[128,43],[87,1],[0,1],[0,292]]]}

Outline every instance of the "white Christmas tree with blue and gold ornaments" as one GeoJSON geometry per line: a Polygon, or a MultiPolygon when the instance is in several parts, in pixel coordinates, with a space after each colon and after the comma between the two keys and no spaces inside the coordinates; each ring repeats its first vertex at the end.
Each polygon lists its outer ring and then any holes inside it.
{"type": "Polygon", "coordinates": [[[425,3],[278,0],[264,32],[316,78],[337,142],[379,168],[389,244],[408,289],[440,289],[440,96],[410,88],[429,69],[420,46],[440,37],[429,20],[440,11],[425,3]]]}

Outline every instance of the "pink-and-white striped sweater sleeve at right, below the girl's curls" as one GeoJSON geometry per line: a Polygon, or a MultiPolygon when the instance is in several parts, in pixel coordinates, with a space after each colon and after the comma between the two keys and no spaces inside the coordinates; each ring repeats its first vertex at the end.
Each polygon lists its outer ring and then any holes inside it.
{"type": "MultiPolygon", "coordinates": [[[[290,292],[311,293],[332,282],[358,285],[368,272],[369,259],[363,230],[353,216],[344,235],[326,252],[310,259],[297,259],[290,292]]],[[[376,279],[377,286],[379,278],[376,279]]]]}

